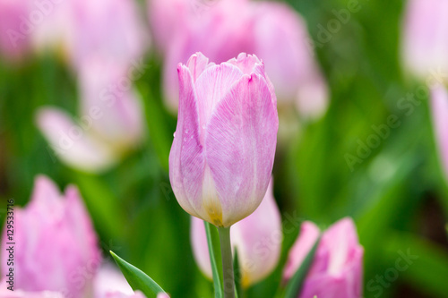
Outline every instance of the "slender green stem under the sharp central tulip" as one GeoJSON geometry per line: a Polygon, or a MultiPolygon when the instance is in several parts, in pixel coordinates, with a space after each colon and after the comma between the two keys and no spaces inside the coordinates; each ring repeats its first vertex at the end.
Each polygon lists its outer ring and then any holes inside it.
{"type": "Polygon", "coordinates": [[[224,298],[235,298],[235,279],[233,277],[232,246],[230,244],[230,227],[218,227],[220,233],[222,277],[224,298]]]}

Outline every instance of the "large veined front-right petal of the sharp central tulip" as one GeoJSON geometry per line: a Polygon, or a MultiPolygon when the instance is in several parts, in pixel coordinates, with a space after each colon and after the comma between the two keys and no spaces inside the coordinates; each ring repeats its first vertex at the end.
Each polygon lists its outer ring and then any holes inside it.
{"type": "Polygon", "coordinates": [[[247,217],[263,200],[271,179],[278,125],[271,91],[258,74],[244,75],[211,115],[205,147],[224,226],[247,217]]]}

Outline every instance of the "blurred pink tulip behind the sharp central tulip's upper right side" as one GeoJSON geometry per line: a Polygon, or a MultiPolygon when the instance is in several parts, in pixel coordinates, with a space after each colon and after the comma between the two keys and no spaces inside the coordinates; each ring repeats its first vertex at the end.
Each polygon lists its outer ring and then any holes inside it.
{"type": "Polygon", "coordinates": [[[303,116],[320,117],[329,95],[314,61],[306,22],[286,4],[261,2],[254,6],[254,53],[263,58],[279,102],[295,104],[303,116]]]}

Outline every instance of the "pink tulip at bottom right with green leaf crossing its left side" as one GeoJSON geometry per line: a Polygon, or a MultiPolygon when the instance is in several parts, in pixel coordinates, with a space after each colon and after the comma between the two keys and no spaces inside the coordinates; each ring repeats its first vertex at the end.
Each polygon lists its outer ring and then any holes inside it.
{"type": "MultiPolygon", "coordinates": [[[[319,234],[319,228],[313,223],[305,222],[302,225],[297,242],[289,251],[284,270],[286,279],[300,267],[319,234]]],[[[363,254],[355,224],[350,218],[341,219],[323,233],[298,297],[361,297],[363,254]]]]}

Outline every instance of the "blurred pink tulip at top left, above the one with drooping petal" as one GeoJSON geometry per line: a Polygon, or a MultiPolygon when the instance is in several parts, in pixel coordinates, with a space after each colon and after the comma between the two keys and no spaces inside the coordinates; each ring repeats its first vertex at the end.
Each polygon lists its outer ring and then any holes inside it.
{"type": "Polygon", "coordinates": [[[73,1],[72,14],[72,61],[76,68],[92,56],[127,67],[136,63],[149,45],[135,1],[73,1]]]}

